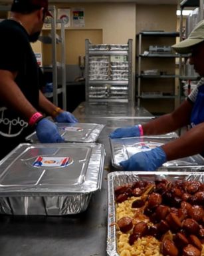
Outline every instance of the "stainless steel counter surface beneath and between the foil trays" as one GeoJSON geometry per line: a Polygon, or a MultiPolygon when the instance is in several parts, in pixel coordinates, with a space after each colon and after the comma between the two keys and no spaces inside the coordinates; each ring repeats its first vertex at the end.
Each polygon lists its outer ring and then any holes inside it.
{"type": "MultiPolygon", "coordinates": [[[[110,121],[100,137],[106,149],[102,190],[95,193],[84,213],[65,217],[13,217],[0,216],[0,254],[1,256],[104,256],[106,255],[107,233],[107,174],[111,167],[109,133],[118,125],[132,125],[136,117],[152,118],[146,109],[134,109],[122,105],[114,107],[88,105],[82,103],[74,111],[80,122],[110,121]],[[104,109],[105,108],[105,109],[104,109]],[[123,108],[123,109],[122,109],[123,108]],[[103,110],[104,109],[104,110],[103,110]],[[93,115],[92,111],[97,114],[93,115]],[[101,115],[100,115],[101,114],[101,115]],[[119,122],[119,123],[118,123],[119,122]]],[[[140,118],[142,121],[143,118],[140,118]]],[[[144,121],[144,120],[143,120],[144,121]]]]}

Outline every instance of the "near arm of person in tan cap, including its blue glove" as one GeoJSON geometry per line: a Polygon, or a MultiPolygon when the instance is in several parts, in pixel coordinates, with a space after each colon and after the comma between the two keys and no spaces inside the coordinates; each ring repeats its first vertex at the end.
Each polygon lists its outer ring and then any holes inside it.
{"type": "Polygon", "coordinates": [[[136,153],[120,162],[124,171],[155,171],[166,161],[189,157],[204,152],[204,122],[184,135],[150,151],[136,153]]]}

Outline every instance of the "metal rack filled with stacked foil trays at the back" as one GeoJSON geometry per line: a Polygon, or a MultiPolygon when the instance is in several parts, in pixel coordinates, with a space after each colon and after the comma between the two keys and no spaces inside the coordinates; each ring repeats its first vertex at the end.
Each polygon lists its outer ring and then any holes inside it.
{"type": "MultiPolygon", "coordinates": [[[[132,39],[128,39],[127,45],[106,45],[110,48],[100,49],[103,45],[94,45],[96,49],[92,50],[92,43],[88,39],[85,40],[86,59],[85,59],[85,76],[86,76],[86,101],[89,102],[118,102],[131,103],[134,105],[134,84],[132,79],[132,39]],[[100,47],[99,47],[100,46],[100,47]],[[122,47],[124,46],[124,47],[122,47]],[[98,49],[97,49],[98,47],[98,49]],[[117,48],[118,47],[118,48],[117,48]],[[124,57],[127,59],[127,78],[126,79],[112,79],[111,57],[124,57]],[[106,58],[107,69],[106,79],[97,78],[90,79],[90,59],[91,58],[106,58]],[[115,95],[112,93],[115,89],[115,95]],[[98,97],[92,98],[91,91],[96,90],[98,97]],[[118,91],[117,91],[118,90],[118,91]],[[122,91],[124,90],[124,91],[122,91]],[[118,93],[118,94],[117,94],[118,93]],[[120,93],[124,93],[121,94],[120,93]]],[[[99,63],[100,64],[100,63],[99,63]]]]}

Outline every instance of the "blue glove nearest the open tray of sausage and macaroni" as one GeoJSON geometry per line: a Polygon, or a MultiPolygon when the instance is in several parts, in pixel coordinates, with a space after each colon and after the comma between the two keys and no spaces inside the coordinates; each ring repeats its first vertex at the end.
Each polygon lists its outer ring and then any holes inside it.
{"type": "Polygon", "coordinates": [[[167,161],[166,154],[161,147],[150,151],[136,153],[126,161],[120,162],[124,171],[155,171],[167,161]]]}

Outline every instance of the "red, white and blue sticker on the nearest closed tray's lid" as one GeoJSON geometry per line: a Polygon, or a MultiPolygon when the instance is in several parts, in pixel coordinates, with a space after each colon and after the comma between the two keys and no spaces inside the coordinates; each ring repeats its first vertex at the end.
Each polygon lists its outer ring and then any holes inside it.
{"type": "Polygon", "coordinates": [[[66,167],[72,163],[70,157],[37,157],[34,167],[66,167]]]}

